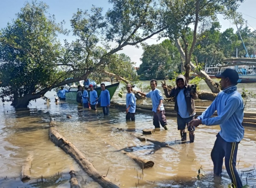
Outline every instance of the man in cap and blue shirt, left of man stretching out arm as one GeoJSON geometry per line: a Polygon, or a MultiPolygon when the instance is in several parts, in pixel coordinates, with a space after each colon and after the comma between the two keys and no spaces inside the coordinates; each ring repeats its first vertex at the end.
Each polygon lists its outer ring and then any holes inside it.
{"type": "Polygon", "coordinates": [[[135,111],[136,111],[136,97],[132,92],[131,84],[126,85],[126,120],[135,121],[135,111]]]}

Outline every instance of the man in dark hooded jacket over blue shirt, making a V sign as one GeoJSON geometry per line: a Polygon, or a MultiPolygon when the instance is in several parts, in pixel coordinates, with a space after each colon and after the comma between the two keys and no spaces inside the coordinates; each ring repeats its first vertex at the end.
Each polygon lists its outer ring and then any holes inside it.
{"type": "MultiPolygon", "coordinates": [[[[174,110],[177,112],[177,125],[180,130],[181,141],[186,141],[187,133],[186,125],[195,119],[195,101],[198,97],[196,90],[193,91],[195,85],[188,84],[183,75],[176,78],[176,86],[169,92],[165,83],[162,84],[165,97],[174,97],[174,110]]],[[[195,127],[190,127],[189,140],[193,143],[195,140],[195,127]]]]}

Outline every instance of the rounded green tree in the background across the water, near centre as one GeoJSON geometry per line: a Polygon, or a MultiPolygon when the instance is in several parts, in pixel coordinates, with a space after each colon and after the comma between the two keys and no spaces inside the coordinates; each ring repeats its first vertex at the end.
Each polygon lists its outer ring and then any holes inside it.
{"type": "Polygon", "coordinates": [[[143,50],[143,57],[140,59],[142,64],[137,70],[140,79],[165,79],[179,70],[179,52],[170,40],[146,45],[143,50]]]}

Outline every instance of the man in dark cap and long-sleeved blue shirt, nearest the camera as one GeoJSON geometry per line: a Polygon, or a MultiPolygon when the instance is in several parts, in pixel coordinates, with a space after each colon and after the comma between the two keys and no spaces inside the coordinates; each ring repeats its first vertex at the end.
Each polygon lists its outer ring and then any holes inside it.
{"type": "Polygon", "coordinates": [[[236,154],[238,144],[244,137],[245,129],[242,126],[244,117],[244,104],[242,96],[238,93],[236,84],[239,76],[238,72],[227,68],[220,78],[222,91],[218,93],[213,103],[198,116],[189,122],[188,126],[197,127],[203,125],[220,125],[220,132],[217,134],[212,152],[213,172],[215,175],[222,174],[223,158],[225,157],[225,167],[229,177],[236,188],[242,187],[241,179],[236,171],[236,154]],[[211,118],[217,110],[217,117],[211,118]]]}

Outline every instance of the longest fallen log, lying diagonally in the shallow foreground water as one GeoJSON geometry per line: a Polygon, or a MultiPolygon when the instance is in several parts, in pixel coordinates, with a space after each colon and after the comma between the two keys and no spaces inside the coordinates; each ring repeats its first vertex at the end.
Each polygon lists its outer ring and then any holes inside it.
{"type": "Polygon", "coordinates": [[[61,147],[67,154],[72,156],[75,161],[82,167],[84,172],[88,174],[94,181],[99,183],[103,188],[119,188],[117,185],[112,183],[107,177],[102,176],[90,163],[84,155],[73,145],[70,141],[68,141],[64,136],[59,134],[57,129],[52,126],[49,128],[49,137],[53,143],[57,146],[61,147]]]}

